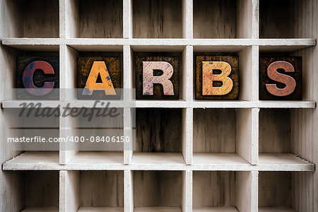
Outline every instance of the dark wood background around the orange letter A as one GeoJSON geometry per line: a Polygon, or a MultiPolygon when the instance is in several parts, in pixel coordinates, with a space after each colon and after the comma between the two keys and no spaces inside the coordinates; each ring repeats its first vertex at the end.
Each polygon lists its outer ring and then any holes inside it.
{"type": "MultiPolygon", "coordinates": [[[[78,99],[116,99],[120,98],[120,91],[117,90],[117,95],[105,95],[103,90],[95,90],[93,95],[82,95],[83,88],[86,86],[86,81],[90,74],[90,70],[93,67],[94,61],[104,61],[107,66],[107,71],[112,79],[112,85],[115,90],[122,88],[122,59],[119,55],[117,56],[79,56],[77,59],[77,88],[78,99]]],[[[96,79],[100,83],[100,78],[96,79]]]]}

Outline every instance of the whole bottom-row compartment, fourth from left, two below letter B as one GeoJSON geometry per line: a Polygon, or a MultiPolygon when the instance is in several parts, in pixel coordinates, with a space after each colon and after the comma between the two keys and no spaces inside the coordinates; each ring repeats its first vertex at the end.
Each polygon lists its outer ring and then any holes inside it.
{"type": "Polygon", "coordinates": [[[252,191],[251,176],[251,172],[194,171],[193,211],[237,212],[250,209],[251,200],[244,195],[252,191]]]}

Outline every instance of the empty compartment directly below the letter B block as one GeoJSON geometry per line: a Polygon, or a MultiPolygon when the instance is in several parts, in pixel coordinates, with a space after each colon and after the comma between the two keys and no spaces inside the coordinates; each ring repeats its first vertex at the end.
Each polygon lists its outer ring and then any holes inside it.
{"type": "MultiPolygon", "coordinates": [[[[238,150],[240,146],[240,139],[238,139],[240,128],[237,129],[240,127],[237,126],[240,117],[238,116],[240,113],[249,113],[248,110],[244,111],[194,109],[194,163],[247,163],[238,150]]],[[[248,124],[248,121],[245,124],[248,124]]],[[[248,129],[250,126],[246,127],[248,129]]],[[[244,148],[248,148],[249,145],[251,144],[245,143],[244,148]]]]}

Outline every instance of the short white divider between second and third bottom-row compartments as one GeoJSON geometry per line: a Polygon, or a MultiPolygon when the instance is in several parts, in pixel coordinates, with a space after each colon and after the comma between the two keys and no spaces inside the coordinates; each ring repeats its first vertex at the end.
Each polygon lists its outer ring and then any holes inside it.
{"type": "Polygon", "coordinates": [[[124,170],[124,212],[134,212],[134,174],[124,170]]]}

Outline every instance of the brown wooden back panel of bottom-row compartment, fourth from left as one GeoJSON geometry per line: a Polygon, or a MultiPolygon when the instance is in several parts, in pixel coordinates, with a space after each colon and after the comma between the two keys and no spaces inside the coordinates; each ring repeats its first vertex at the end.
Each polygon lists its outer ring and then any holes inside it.
{"type": "Polygon", "coordinates": [[[235,172],[193,172],[193,207],[235,206],[235,172]]]}

